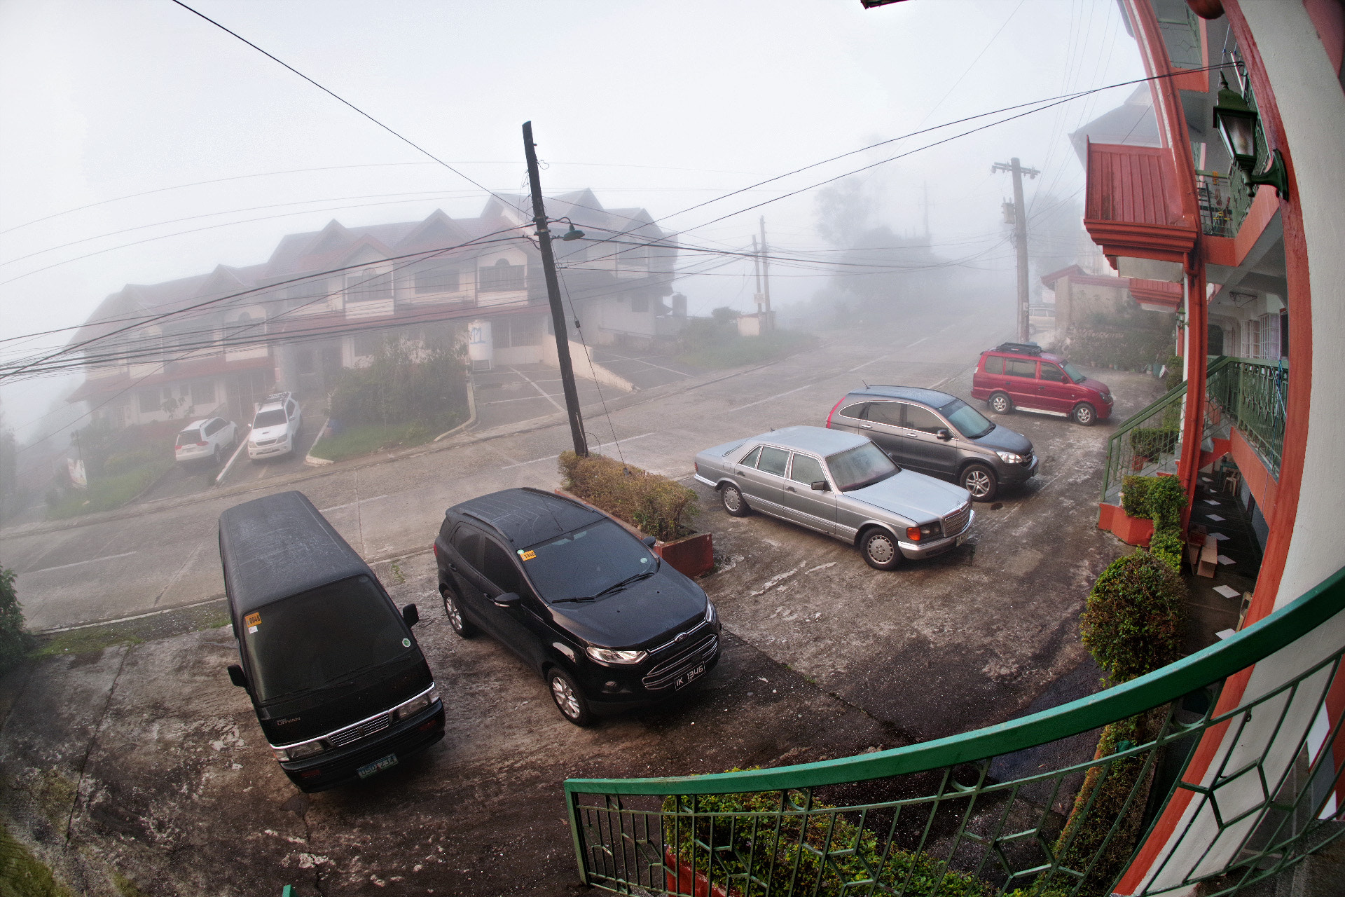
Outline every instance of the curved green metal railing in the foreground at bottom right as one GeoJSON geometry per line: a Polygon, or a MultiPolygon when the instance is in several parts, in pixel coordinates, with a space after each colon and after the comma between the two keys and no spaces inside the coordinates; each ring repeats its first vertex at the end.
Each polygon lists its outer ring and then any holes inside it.
{"type": "Polygon", "coordinates": [[[1110,894],[1163,808],[1185,792],[1185,827],[1171,830],[1158,877],[1135,893],[1197,882],[1204,894],[1236,893],[1345,831],[1332,822],[1340,769],[1332,750],[1319,749],[1340,724],[1309,740],[1303,722],[1326,718],[1345,654],[1338,641],[1313,647],[1321,639],[1311,636],[1345,621],[1336,619],[1342,611],[1345,570],[1162,670],[907,748],[706,776],[572,779],[565,795],[580,877],[617,893],[697,897],[1110,894]],[[1224,680],[1271,655],[1274,663],[1289,658],[1297,675],[1216,713],[1224,680]],[[1100,726],[1111,734],[1099,756],[1056,760],[1080,749],[1061,740],[1100,726]],[[1239,748],[1200,775],[1190,764],[1206,733],[1239,748]],[[1209,850],[1210,831],[1197,820],[1217,828],[1216,843],[1233,839],[1227,858],[1209,850]]]}

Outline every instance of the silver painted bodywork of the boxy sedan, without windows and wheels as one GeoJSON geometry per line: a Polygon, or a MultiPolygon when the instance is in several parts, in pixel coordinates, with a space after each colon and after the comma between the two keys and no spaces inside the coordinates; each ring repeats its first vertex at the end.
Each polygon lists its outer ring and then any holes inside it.
{"type": "MultiPolygon", "coordinates": [[[[869,527],[882,527],[892,533],[901,554],[909,559],[942,554],[964,542],[975,511],[971,510],[971,494],[960,485],[902,469],[863,488],[849,492],[837,488],[827,459],[869,441],[857,433],[820,426],[787,426],[701,452],[695,456],[695,479],[716,490],[732,484],[753,510],[851,545],[869,527]],[[741,464],[757,446],[790,452],[783,476],[741,464]],[[795,464],[800,459],[811,459],[820,465],[826,491],[811,488],[810,481],[792,479],[799,475],[795,464]],[[908,527],[932,524],[937,526],[920,541],[907,535],[908,527]]],[[[800,469],[814,468],[803,460],[800,469]]]]}

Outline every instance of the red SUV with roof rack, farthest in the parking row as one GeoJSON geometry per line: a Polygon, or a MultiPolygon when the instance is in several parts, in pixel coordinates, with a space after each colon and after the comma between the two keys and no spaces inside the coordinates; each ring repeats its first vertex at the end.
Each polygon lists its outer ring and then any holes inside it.
{"type": "Polygon", "coordinates": [[[1007,414],[1015,407],[1072,417],[1092,426],[1111,417],[1111,390],[1034,343],[1001,343],[981,354],[971,377],[972,398],[1007,414]]]}

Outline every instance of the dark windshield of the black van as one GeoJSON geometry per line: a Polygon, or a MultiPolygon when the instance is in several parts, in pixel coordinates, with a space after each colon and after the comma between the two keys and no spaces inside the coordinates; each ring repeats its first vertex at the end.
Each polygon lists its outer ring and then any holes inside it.
{"type": "Polygon", "coordinates": [[[261,702],[335,685],[414,651],[401,616],[367,576],[246,615],[242,641],[261,702]]]}

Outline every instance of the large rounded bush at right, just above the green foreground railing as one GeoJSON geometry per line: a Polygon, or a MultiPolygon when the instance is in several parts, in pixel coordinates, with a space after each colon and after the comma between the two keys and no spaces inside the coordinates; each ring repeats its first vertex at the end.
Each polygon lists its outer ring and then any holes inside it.
{"type": "Polygon", "coordinates": [[[1088,594],[1084,646],[1112,683],[1166,666],[1181,656],[1185,600],[1176,568],[1143,550],[1118,558],[1088,594]]]}

